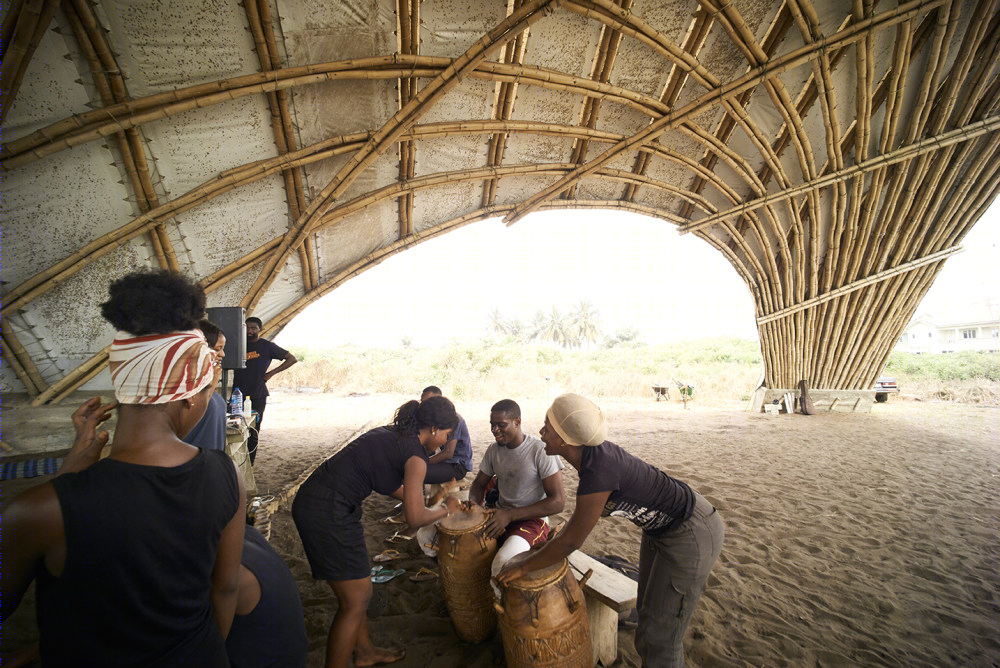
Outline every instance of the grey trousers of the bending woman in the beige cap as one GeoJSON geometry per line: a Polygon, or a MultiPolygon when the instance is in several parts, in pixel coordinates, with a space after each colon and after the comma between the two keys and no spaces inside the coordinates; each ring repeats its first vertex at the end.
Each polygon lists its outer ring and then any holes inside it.
{"type": "Polygon", "coordinates": [[[684,665],[684,633],[725,533],[719,513],[695,492],[694,514],[686,522],[655,538],[643,534],[635,647],[644,667],[684,665]]]}

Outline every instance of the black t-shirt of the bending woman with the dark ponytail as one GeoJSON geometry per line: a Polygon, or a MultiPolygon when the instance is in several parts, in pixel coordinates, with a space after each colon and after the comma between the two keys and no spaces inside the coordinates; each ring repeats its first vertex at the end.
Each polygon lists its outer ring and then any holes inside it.
{"type": "Polygon", "coordinates": [[[373,491],[388,496],[399,489],[406,462],[414,456],[427,461],[416,434],[404,436],[391,427],[376,427],[320,464],[302,492],[308,494],[318,485],[360,505],[373,491]]]}

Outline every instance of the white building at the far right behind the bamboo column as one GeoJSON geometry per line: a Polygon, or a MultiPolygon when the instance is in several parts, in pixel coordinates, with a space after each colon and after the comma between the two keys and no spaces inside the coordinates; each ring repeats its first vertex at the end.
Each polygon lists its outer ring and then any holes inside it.
{"type": "Polygon", "coordinates": [[[895,349],[908,353],[1000,352],[1000,302],[973,305],[945,323],[918,314],[903,330],[895,349]]]}

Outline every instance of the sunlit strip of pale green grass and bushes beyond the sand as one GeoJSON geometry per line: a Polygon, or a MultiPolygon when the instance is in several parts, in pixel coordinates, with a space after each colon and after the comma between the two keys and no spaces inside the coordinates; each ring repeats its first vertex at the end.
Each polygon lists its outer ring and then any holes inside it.
{"type": "MultiPolygon", "coordinates": [[[[673,379],[693,385],[710,406],[745,405],[763,369],[756,341],[712,339],[661,345],[634,342],[567,350],[546,344],[485,339],[437,348],[326,350],[293,348],[301,362],[274,377],[275,388],[313,388],[340,395],[396,392],[416,395],[439,385],[462,401],[547,397],[573,391],[597,398],[650,401],[653,385],[673,379]]],[[[893,353],[885,374],[904,395],[923,400],[1000,405],[1000,354],[893,353]]]]}

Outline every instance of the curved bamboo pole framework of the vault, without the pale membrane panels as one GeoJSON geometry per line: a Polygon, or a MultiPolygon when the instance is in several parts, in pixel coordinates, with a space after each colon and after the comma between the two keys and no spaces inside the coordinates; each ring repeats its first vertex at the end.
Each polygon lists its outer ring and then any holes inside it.
{"type": "MultiPolygon", "coordinates": [[[[427,30],[428,20],[445,20],[434,0],[380,1],[395,14],[385,26],[392,52],[295,64],[287,32],[297,17],[279,17],[269,0],[248,0],[246,53],[258,72],[139,98],[129,95],[115,52],[125,43],[112,29],[118,24],[86,0],[14,3],[0,35],[4,120],[19,118],[15,98],[33,85],[32,59],[53,22],[67,28],[95,108],[29,126],[3,145],[0,169],[37,175],[64,149],[109,141],[135,215],[6,290],[0,314],[37,318],[39,297],[75,285],[82,269],[144,238],[160,266],[194,272],[210,292],[256,271],[242,297],[250,310],[291,266],[301,274],[300,293],[269,318],[276,330],[366,268],[469,222],[503,216],[512,224],[539,209],[603,207],[667,221],[729,260],[754,296],[768,386],[808,378],[813,386],[859,389],[874,380],[942,262],[1000,190],[996,0],[842,9],[785,0],[754,19],[740,13],[749,6],[699,0],[673,32],[633,0],[510,0],[478,40],[451,44],[450,56],[439,45],[421,53],[422,35],[447,33],[427,30]],[[559,40],[575,44],[588,35],[586,66],[553,65],[565,51],[559,40]],[[640,52],[658,59],[655,82],[632,77],[629,63],[640,52]],[[723,73],[722,53],[735,69],[723,73]],[[473,81],[493,86],[484,117],[462,116],[454,106],[456,91],[473,90],[473,81]],[[296,96],[322,90],[336,99],[337,87],[350,82],[394,85],[395,111],[364,119],[361,131],[304,141],[301,125],[312,119],[296,96]],[[519,103],[523,94],[571,101],[573,121],[534,114],[519,103]],[[255,98],[270,116],[274,154],[206,175],[171,198],[158,145],[144,129],[255,98]],[[452,117],[426,120],[441,110],[452,117]],[[420,167],[431,142],[470,137],[485,140],[480,165],[420,167]],[[559,147],[556,159],[511,159],[512,142],[524,156],[531,155],[525,146],[542,141],[559,147]],[[395,179],[358,191],[360,177],[368,179],[390,151],[398,156],[395,179]],[[284,234],[241,249],[223,267],[192,265],[176,248],[179,230],[190,227],[178,216],[272,179],[285,196],[284,234]],[[584,194],[595,183],[617,196],[584,194]],[[481,184],[466,212],[418,228],[417,205],[460,184],[481,184]],[[512,187],[519,189],[513,198],[512,187]],[[317,233],[389,202],[395,239],[329,264],[317,233]]],[[[30,327],[5,326],[2,338],[10,371],[39,403],[62,399],[106,360],[97,351],[54,377],[44,352],[52,341],[30,327]]]]}

